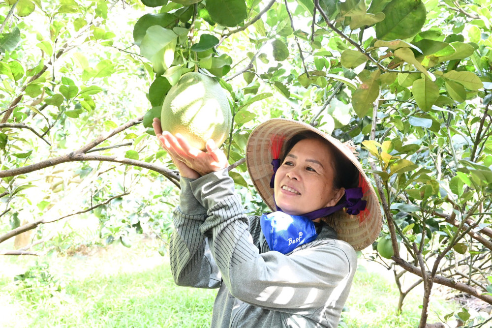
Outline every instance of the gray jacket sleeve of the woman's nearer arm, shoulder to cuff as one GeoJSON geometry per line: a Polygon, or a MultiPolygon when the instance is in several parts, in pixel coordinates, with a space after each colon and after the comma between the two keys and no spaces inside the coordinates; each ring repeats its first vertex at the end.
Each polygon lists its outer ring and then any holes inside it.
{"type": "Polygon", "coordinates": [[[234,182],[226,170],[191,182],[196,199],[207,210],[201,225],[230,293],[247,303],[277,311],[308,315],[346,298],[357,257],[347,243],[327,239],[284,255],[259,254],[234,182]]]}

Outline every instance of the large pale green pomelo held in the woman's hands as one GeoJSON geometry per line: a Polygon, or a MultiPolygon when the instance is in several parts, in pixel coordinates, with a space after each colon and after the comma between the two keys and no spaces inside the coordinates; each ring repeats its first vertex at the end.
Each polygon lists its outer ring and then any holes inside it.
{"type": "Polygon", "coordinates": [[[232,114],[227,95],[213,78],[197,72],[184,74],[162,104],[162,131],[180,133],[192,147],[205,150],[209,139],[219,147],[227,139],[232,114]]]}

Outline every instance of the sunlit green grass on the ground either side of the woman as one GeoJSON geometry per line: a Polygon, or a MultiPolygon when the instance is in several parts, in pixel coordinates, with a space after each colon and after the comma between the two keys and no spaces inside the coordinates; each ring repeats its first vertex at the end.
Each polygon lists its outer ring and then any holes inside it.
{"type": "MultiPolygon", "coordinates": [[[[0,327],[210,327],[216,290],[176,286],[169,260],[158,255],[153,242],[132,248],[118,244],[90,256],[38,259],[50,264],[64,287],[55,297],[40,297],[35,303],[25,300],[26,292],[19,291],[12,278],[36,259],[0,258],[0,327]]],[[[359,265],[343,322],[350,328],[416,327],[422,301],[418,294],[416,289],[407,296],[398,316],[394,281],[359,265]]],[[[431,302],[441,317],[455,308],[442,304],[431,302]]],[[[428,322],[434,319],[430,313],[428,322]]]]}

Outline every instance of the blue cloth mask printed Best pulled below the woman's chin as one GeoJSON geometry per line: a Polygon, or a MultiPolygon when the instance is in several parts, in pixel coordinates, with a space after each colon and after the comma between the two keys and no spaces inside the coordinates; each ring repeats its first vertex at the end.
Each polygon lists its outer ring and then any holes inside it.
{"type": "Polygon", "coordinates": [[[287,254],[318,237],[314,223],[305,216],[276,211],[260,217],[261,230],[271,250],[287,254]]]}

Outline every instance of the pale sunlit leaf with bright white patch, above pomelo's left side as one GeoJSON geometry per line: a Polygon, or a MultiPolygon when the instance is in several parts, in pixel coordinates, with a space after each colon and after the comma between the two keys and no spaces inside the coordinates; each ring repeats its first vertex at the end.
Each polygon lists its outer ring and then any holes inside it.
{"type": "Polygon", "coordinates": [[[177,42],[178,34],[174,31],[154,25],[147,29],[140,43],[140,53],[152,61],[157,74],[162,74],[173,63],[177,42]]]}

